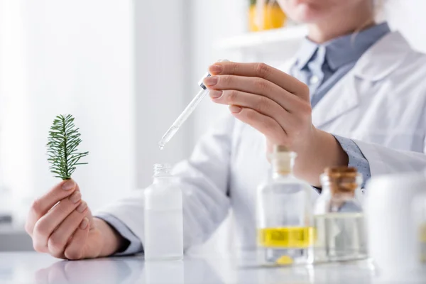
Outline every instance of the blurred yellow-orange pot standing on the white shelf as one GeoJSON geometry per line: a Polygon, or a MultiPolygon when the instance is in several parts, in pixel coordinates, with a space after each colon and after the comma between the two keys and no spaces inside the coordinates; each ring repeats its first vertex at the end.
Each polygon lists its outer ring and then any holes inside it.
{"type": "Polygon", "coordinates": [[[287,17],[283,9],[278,3],[267,3],[261,6],[251,4],[249,9],[249,30],[250,31],[264,31],[273,28],[282,28],[285,25],[287,17]],[[260,11],[259,11],[260,10],[260,11]],[[258,15],[263,12],[263,15],[258,15]],[[262,21],[263,19],[263,21],[262,21]],[[263,22],[263,23],[262,23],[263,22]]]}

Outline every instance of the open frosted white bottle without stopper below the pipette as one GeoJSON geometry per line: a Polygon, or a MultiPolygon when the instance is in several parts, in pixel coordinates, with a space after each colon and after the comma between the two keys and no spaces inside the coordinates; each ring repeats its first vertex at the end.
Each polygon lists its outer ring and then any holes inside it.
{"type": "Polygon", "coordinates": [[[145,190],[145,259],[183,259],[182,190],[169,164],[154,165],[153,184],[145,190]]]}

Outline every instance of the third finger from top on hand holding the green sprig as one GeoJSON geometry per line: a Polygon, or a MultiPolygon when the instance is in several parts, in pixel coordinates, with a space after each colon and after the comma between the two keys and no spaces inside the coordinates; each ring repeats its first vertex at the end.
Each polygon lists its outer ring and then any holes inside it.
{"type": "MultiPolygon", "coordinates": [[[[82,223],[83,219],[86,218],[87,214],[87,203],[81,202],[80,205],[75,209],[59,226],[48,239],[48,250],[53,256],[60,257],[65,251],[68,240],[82,223]]],[[[87,222],[89,222],[87,220],[87,222]]],[[[75,236],[72,236],[70,244],[72,243],[75,236]]]]}

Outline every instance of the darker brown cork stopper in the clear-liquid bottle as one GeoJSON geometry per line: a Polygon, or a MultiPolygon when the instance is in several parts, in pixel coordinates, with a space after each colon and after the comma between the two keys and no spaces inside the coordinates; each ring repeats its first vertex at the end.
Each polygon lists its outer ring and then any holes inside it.
{"type": "Polygon", "coordinates": [[[349,194],[354,196],[358,185],[358,170],[352,167],[326,168],[324,175],[332,195],[349,194]]]}

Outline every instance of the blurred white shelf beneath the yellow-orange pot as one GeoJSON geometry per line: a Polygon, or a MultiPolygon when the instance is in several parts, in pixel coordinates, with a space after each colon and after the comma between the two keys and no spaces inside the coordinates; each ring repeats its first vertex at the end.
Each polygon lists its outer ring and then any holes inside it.
{"type": "Polygon", "coordinates": [[[214,43],[216,50],[256,50],[265,45],[283,45],[299,42],[307,34],[306,26],[290,26],[223,38],[214,43]]]}

